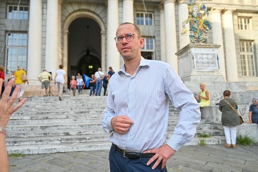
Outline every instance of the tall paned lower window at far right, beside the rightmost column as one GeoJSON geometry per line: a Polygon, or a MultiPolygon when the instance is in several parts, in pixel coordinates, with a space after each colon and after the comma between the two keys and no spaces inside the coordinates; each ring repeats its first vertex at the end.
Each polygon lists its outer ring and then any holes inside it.
{"type": "Polygon", "coordinates": [[[256,76],[252,41],[240,41],[242,76],[256,76]]]}

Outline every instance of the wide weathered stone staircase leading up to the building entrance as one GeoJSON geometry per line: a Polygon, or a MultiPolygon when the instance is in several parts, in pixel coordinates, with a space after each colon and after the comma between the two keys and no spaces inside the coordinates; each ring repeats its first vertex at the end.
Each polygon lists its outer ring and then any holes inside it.
{"type": "MultiPolygon", "coordinates": [[[[109,134],[102,128],[107,97],[88,95],[65,95],[62,101],[53,96],[28,98],[25,105],[11,116],[6,127],[8,153],[109,149],[109,134]]],[[[168,138],[178,122],[178,111],[171,106],[169,113],[168,138]]],[[[197,128],[197,133],[213,136],[206,138],[207,144],[219,144],[224,140],[223,131],[214,126],[217,125],[207,125],[202,120],[197,128]]],[[[195,137],[189,145],[198,144],[199,140],[195,137]]]]}

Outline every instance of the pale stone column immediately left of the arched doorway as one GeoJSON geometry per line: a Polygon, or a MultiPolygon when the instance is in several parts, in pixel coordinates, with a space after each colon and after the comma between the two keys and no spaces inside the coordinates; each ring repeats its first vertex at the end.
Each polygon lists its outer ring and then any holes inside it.
{"type": "MultiPolygon", "coordinates": [[[[53,76],[58,69],[58,0],[47,0],[45,68],[53,76]]],[[[53,77],[54,79],[54,77],[53,77]]]]}

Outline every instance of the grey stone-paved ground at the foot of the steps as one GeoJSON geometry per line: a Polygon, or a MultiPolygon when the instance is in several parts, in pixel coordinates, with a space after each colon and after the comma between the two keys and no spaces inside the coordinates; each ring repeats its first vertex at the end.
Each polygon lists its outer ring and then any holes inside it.
{"type": "MultiPolygon", "coordinates": [[[[109,171],[108,150],[24,155],[9,158],[10,171],[109,171]]],[[[168,171],[258,171],[258,144],[184,146],[167,162],[168,171]]]]}

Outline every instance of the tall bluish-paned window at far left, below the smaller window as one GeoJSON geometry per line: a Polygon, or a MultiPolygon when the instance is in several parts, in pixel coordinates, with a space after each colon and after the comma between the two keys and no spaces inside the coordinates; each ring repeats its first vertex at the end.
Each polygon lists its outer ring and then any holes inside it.
{"type": "Polygon", "coordinates": [[[17,70],[19,65],[27,69],[27,50],[28,34],[27,33],[10,33],[8,34],[6,45],[6,74],[11,74],[17,70]]]}

